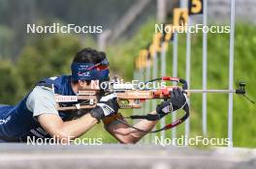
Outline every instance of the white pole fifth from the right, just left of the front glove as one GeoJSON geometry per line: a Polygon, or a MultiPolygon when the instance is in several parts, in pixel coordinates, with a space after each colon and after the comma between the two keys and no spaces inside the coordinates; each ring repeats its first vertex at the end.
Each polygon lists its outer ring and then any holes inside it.
{"type": "MultiPolygon", "coordinates": [[[[165,76],[166,75],[166,48],[164,45],[164,42],[162,43],[162,48],[161,48],[161,76],[165,76]]],[[[165,127],[166,125],[166,121],[165,118],[162,118],[160,120],[160,126],[161,127],[165,127]]],[[[166,137],[166,131],[162,130],[161,131],[161,136],[163,136],[163,138],[165,139],[166,137]]]]}

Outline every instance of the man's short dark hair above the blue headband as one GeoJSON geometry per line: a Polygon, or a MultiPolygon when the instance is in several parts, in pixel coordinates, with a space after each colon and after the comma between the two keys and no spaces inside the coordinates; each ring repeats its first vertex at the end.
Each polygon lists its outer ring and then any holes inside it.
{"type": "MultiPolygon", "coordinates": [[[[106,58],[106,53],[102,51],[97,51],[90,47],[81,49],[75,56],[73,63],[92,63],[98,64],[106,58]]],[[[78,83],[78,80],[74,80],[73,83],[78,83]]],[[[90,81],[87,81],[90,83],[90,81]]]]}

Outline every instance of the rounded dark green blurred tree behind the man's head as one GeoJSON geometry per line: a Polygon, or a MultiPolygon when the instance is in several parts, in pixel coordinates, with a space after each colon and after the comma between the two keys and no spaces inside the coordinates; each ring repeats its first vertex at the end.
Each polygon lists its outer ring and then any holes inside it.
{"type": "Polygon", "coordinates": [[[42,78],[69,73],[70,63],[80,49],[79,39],[72,36],[45,36],[24,47],[17,70],[27,91],[42,78]]]}

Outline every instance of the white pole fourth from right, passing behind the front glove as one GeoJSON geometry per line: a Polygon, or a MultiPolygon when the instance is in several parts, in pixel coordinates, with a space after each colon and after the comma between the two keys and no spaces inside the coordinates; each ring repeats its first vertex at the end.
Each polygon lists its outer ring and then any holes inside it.
{"type": "MultiPolygon", "coordinates": [[[[177,77],[177,43],[178,43],[178,36],[177,32],[174,33],[174,49],[173,49],[173,77],[177,77]]],[[[176,85],[176,84],[175,84],[176,85]]],[[[173,122],[176,121],[176,111],[172,113],[173,122]]],[[[176,138],[176,127],[172,129],[172,138],[176,138]]]]}

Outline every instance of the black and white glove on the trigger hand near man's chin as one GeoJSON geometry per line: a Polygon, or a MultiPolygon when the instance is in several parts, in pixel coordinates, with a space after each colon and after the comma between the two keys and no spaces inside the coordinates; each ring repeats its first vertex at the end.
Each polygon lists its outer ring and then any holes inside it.
{"type": "Polygon", "coordinates": [[[111,94],[103,97],[96,104],[96,107],[90,111],[90,114],[93,118],[100,121],[102,118],[112,115],[118,112],[118,102],[116,100],[116,95],[111,94]]]}

